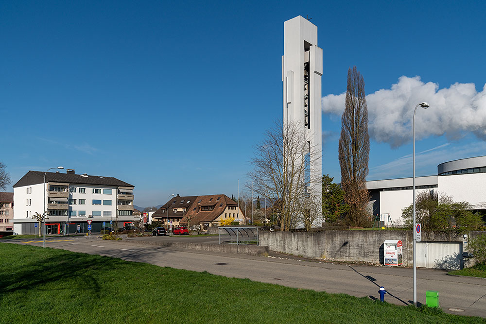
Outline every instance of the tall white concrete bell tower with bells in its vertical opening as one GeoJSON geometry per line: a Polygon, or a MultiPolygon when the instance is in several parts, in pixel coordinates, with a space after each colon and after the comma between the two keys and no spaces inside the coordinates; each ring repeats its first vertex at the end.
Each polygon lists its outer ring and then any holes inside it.
{"type": "MultiPolygon", "coordinates": [[[[311,179],[322,176],[321,76],[322,49],[317,47],[317,26],[301,16],[285,21],[283,120],[301,124],[306,132],[311,153],[311,179]]],[[[320,183],[313,181],[310,189],[312,195],[322,197],[320,183]]]]}

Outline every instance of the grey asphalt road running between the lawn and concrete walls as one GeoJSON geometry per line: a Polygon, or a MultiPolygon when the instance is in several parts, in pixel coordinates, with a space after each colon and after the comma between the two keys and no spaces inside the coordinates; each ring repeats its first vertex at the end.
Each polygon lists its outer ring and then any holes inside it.
{"type": "MultiPolygon", "coordinates": [[[[174,239],[174,238],[147,238],[174,239]]],[[[179,238],[216,240],[212,238],[179,238]]],[[[14,241],[10,241],[14,243],[14,241]]],[[[17,244],[42,246],[42,240],[16,240],[17,244]]],[[[397,305],[412,302],[412,269],[347,265],[331,262],[309,262],[275,256],[244,256],[216,252],[155,247],[125,241],[87,238],[57,238],[46,240],[46,246],[74,252],[119,257],[124,260],[146,262],[158,266],[192,271],[207,271],[227,277],[249,278],[283,286],[324,290],[329,293],[375,299],[384,286],[385,301],[397,305]]],[[[439,292],[439,305],[446,312],[486,317],[486,279],[450,276],[443,270],[417,270],[417,299],[425,304],[425,291],[439,292]],[[460,311],[453,311],[458,309],[460,311]]]]}

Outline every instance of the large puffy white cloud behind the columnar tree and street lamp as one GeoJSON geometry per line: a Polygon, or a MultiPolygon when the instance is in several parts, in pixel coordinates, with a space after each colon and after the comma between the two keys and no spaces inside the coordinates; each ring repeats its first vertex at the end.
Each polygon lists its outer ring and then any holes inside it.
{"type": "MultiPolygon", "coordinates": [[[[322,98],[322,111],[341,115],[346,93],[322,98]]],[[[439,89],[433,82],[423,83],[420,77],[401,76],[390,89],[381,89],[366,96],[368,131],[377,142],[399,147],[412,139],[412,117],[419,102],[429,102],[426,111],[417,109],[416,138],[442,136],[459,138],[472,132],[486,139],[486,85],[477,92],[473,83],[455,83],[439,89]]]]}

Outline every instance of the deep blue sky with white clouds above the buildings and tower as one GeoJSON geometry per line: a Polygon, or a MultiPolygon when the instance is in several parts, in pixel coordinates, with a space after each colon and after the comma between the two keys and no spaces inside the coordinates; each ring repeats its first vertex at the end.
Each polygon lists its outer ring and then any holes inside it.
{"type": "Polygon", "coordinates": [[[323,172],[340,180],[339,95],[356,65],[373,95],[368,179],[411,176],[407,114],[420,101],[431,107],[417,112],[417,175],[434,174],[441,162],[486,154],[485,9],[2,1],[0,160],[13,183],[57,165],[114,176],[136,186],[140,206],[172,193],[236,196],[254,145],[281,117],[283,22],[309,15],[324,57],[323,172]]]}

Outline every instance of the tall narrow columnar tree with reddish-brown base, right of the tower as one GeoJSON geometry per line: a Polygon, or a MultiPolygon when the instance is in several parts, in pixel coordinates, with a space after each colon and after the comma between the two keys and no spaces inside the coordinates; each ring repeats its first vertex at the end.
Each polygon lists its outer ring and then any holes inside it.
{"type": "Polygon", "coordinates": [[[368,160],[368,107],[364,95],[364,79],[354,67],[347,71],[346,103],[339,139],[341,182],[345,191],[345,203],[349,205],[347,222],[351,226],[365,226],[368,222],[368,160]]]}

